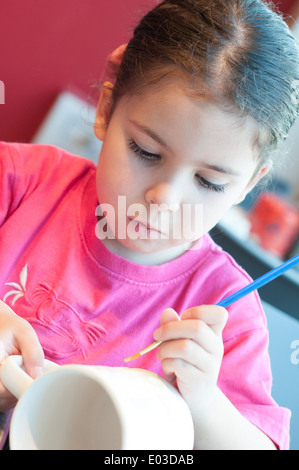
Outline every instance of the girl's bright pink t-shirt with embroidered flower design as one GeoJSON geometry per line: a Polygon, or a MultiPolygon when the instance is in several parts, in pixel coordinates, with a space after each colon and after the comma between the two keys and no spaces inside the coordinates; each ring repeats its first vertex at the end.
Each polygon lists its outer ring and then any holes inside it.
{"type": "MultiPolygon", "coordinates": [[[[59,364],[145,368],[163,309],[216,304],[250,282],[206,235],[197,250],[141,266],[97,239],[95,166],[50,147],[0,143],[0,298],[28,320],[45,356],[59,364]]],[[[219,387],[281,449],[290,412],[271,398],[265,315],[257,293],[229,309],[219,387]]]]}

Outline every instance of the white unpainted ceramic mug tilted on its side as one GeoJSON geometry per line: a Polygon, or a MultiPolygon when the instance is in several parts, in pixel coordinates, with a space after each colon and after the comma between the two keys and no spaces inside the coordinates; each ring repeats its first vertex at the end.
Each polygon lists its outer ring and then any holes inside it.
{"type": "Polygon", "coordinates": [[[32,380],[21,356],[0,367],[18,399],[12,450],[191,450],[194,429],[179,393],[153,372],[125,367],[57,366],[32,380]]]}

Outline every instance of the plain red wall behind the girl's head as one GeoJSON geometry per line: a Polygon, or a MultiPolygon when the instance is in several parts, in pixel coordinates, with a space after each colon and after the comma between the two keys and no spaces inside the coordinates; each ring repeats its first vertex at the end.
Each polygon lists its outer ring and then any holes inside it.
{"type": "MultiPolygon", "coordinates": [[[[276,1],[288,11],[294,0],[276,1]]],[[[56,96],[88,95],[107,55],[157,0],[1,0],[0,140],[30,141],[56,96]],[[139,10],[139,11],[138,11],[139,10]]]]}

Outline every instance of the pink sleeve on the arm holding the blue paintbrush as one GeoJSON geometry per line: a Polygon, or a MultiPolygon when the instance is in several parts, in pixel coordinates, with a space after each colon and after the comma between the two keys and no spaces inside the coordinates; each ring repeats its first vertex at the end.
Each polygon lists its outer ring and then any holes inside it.
{"type": "Polygon", "coordinates": [[[291,412],[271,397],[267,328],[255,328],[227,339],[224,351],[219,388],[278,449],[288,450],[291,412]]]}

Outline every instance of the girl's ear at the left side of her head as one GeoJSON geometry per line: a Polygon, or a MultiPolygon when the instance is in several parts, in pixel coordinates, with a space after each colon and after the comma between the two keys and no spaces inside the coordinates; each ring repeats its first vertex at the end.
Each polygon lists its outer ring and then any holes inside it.
{"type": "Polygon", "coordinates": [[[113,93],[113,85],[110,82],[105,82],[102,86],[98,106],[97,106],[97,114],[96,114],[96,121],[94,124],[94,132],[96,137],[104,141],[106,131],[108,128],[111,108],[113,104],[112,99],[113,93]]]}

